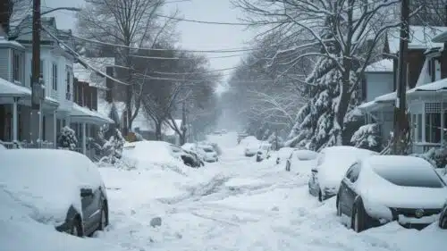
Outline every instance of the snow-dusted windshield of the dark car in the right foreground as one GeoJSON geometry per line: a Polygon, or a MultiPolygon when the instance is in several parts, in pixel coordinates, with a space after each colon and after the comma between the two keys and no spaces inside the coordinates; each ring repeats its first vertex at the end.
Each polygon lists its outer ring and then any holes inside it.
{"type": "Polygon", "coordinates": [[[443,188],[443,180],[430,168],[419,166],[375,166],[375,173],[401,187],[443,188]]]}

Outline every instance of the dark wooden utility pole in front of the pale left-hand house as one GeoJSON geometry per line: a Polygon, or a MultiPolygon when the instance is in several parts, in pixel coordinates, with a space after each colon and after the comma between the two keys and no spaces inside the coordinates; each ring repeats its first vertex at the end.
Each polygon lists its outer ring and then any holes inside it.
{"type": "Polygon", "coordinates": [[[40,106],[45,98],[40,76],[40,0],[33,0],[32,14],[32,65],[31,65],[31,112],[30,141],[38,146],[42,136],[42,117],[40,106]]]}

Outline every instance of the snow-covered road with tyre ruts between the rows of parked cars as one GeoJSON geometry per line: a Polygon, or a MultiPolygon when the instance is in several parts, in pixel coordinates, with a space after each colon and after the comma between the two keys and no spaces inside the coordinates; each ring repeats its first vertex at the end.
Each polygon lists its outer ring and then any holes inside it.
{"type": "Polygon", "coordinates": [[[220,163],[187,174],[102,169],[111,226],[101,241],[127,250],[442,250],[447,231],[404,230],[395,223],[355,233],[335,215],[334,200],[308,195],[307,173],[256,163],[226,138],[220,163]],[[150,221],[162,218],[153,228],[150,221]]]}

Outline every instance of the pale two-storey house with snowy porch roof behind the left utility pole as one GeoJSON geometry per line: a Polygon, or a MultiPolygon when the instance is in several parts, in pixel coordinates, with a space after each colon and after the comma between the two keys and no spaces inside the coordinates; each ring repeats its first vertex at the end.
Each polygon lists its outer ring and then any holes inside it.
{"type": "MultiPolygon", "coordinates": [[[[73,62],[76,58],[67,47],[73,47],[71,30],[57,29],[54,18],[42,18],[40,74],[45,85],[45,100],[41,105],[42,140],[56,146],[57,133],[65,125],[79,122],[81,129],[89,122],[113,122],[84,104],[73,102],[73,62]],[[51,36],[50,36],[51,34],[51,36]]],[[[14,41],[0,38],[0,139],[28,141],[39,126],[30,123],[31,86],[31,20],[21,21],[13,29],[14,41]]],[[[91,95],[90,95],[91,96],[91,95]]],[[[87,100],[87,99],[86,99],[87,100]]],[[[89,100],[92,106],[93,100],[89,100]]],[[[95,108],[92,106],[91,108],[95,108]]],[[[81,130],[80,151],[86,153],[86,130],[81,130]]]]}

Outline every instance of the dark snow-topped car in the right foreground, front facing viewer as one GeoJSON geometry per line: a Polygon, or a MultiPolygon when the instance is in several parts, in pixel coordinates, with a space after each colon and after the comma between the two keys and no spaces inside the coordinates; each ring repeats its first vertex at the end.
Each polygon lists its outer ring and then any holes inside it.
{"type": "Polygon", "coordinates": [[[447,186],[426,160],[375,155],[350,166],[336,206],[357,232],[392,221],[420,230],[438,220],[446,200],[447,186]]]}

